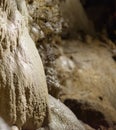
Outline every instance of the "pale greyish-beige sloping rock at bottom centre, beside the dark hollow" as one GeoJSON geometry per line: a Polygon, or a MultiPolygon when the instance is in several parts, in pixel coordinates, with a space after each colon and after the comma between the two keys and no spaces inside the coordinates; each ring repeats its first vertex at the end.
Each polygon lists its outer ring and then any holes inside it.
{"type": "Polygon", "coordinates": [[[50,130],[85,130],[76,116],[60,100],[49,96],[50,130]]]}

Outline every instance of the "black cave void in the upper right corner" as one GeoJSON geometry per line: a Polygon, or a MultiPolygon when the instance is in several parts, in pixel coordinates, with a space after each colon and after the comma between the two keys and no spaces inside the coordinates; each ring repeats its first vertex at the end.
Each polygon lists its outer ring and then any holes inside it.
{"type": "Polygon", "coordinates": [[[116,0],[81,0],[87,16],[99,33],[106,29],[108,37],[116,41],[116,0]],[[96,11],[97,10],[97,11],[96,11]]]}

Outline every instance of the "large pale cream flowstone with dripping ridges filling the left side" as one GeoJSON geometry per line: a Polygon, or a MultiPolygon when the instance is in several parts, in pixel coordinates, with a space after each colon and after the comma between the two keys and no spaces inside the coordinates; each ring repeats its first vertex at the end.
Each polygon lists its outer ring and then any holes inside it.
{"type": "Polygon", "coordinates": [[[0,116],[10,125],[38,128],[46,117],[48,92],[27,14],[24,0],[0,2],[0,116]]]}

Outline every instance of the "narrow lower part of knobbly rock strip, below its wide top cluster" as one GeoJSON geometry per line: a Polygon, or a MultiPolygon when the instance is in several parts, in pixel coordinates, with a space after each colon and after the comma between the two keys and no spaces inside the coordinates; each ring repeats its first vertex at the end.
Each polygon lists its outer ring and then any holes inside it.
{"type": "Polygon", "coordinates": [[[57,98],[61,90],[54,62],[56,59],[57,49],[55,49],[55,46],[53,44],[42,43],[38,47],[38,50],[45,69],[48,92],[49,94],[57,98]]]}

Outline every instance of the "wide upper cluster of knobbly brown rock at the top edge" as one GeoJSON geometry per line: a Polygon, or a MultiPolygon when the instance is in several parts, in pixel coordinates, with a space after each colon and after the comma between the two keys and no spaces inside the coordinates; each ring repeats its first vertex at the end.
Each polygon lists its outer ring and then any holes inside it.
{"type": "Polygon", "coordinates": [[[29,12],[30,35],[33,40],[46,40],[59,34],[62,22],[58,0],[27,0],[29,12]]]}

